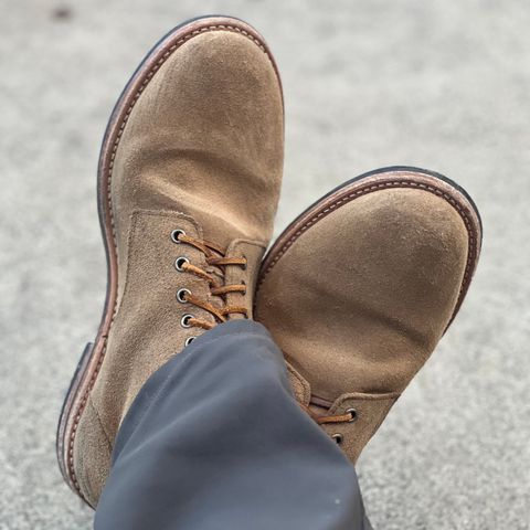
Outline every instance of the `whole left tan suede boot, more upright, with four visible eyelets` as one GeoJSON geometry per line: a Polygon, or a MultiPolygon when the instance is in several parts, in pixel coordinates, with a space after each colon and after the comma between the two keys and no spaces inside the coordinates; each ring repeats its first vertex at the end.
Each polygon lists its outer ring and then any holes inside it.
{"type": "Polygon", "coordinates": [[[279,195],[283,119],[263,38],[225,17],[170,32],[114,109],[98,170],[107,300],[57,435],[63,475],[93,507],[146,380],[199,333],[252,318],[279,195]]]}

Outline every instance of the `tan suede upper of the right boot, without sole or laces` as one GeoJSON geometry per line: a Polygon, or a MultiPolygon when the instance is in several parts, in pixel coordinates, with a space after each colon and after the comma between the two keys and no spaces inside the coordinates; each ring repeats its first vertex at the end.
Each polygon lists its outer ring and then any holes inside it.
{"type": "MultiPolygon", "coordinates": [[[[312,224],[264,276],[256,319],[293,364],[297,396],[357,410],[327,425],[354,462],[433,352],[468,253],[458,212],[422,190],[375,191],[312,224]]],[[[315,407],[322,413],[322,409],[315,407]]]]}

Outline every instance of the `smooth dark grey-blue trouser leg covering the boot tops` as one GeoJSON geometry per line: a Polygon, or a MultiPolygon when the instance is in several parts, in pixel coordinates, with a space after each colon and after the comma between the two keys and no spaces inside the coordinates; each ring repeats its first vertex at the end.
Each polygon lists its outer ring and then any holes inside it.
{"type": "Polygon", "coordinates": [[[202,335],[145,384],[96,530],[369,530],[353,467],[289,391],[265,328],[202,335]]]}

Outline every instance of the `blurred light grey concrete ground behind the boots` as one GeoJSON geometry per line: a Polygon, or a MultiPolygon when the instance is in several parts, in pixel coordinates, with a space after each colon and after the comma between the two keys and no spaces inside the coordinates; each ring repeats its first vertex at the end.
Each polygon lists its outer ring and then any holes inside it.
{"type": "Polygon", "coordinates": [[[91,527],[54,442],[105,293],[99,141],[150,45],[209,12],[256,25],[283,72],[277,232],[394,163],[452,177],[483,213],[465,306],[359,463],[374,528],[530,528],[528,1],[0,0],[0,529],[91,527]]]}

